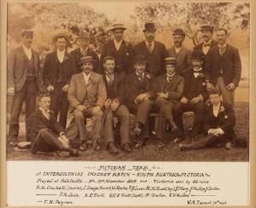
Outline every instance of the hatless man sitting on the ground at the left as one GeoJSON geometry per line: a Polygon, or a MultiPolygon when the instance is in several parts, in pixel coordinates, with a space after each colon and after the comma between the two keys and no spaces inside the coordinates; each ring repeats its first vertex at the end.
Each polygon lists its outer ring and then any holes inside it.
{"type": "Polygon", "coordinates": [[[39,95],[38,110],[29,117],[32,153],[55,152],[61,157],[78,156],[79,152],[69,146],[69,140],[78,136],[78,129],[70,126],[64,130],[49,110],[49,95],[39,95]]]}

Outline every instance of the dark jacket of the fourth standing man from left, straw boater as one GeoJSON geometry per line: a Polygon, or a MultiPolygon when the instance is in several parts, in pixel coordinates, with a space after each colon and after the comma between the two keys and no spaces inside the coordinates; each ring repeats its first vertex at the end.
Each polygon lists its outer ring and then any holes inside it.
{"type": "Polygon", "coordinates": [[[107,56],[113,56],[115,60],[115,69],[114,72],[125,72],[128,74],[131,71],[132,67],[132,47],[131,43],[126,42],[125,40],[122,41],[119,50],[115,49],[113,40],[105,43],[102,47],[102,54],[101,54],[101,73],[104,72],[103,68],[103,59],[107,56]]]}

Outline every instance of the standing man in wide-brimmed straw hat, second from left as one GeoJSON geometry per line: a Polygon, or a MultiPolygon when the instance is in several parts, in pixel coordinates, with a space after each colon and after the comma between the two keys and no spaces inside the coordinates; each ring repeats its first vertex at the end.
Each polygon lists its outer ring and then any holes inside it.
{"type": "Polygon", "coordinates": [[[55,113],[56,118],[60,113],[60,123],[66,128],[69,106],[67,90],[76,65],[73,55],[67,53],[67,35],[56,34],[54,41],[56,51],[46,55],[44,62],[44,84],[51,98],[50,109],[55,113]]]}

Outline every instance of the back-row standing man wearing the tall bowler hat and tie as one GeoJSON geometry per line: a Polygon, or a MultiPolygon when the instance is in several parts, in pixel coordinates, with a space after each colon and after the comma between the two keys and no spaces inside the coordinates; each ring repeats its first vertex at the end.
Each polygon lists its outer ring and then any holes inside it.
{"type": "Polygon", "coordinates": [[[143,55],[146,58],[146,71],[154,76],[165,72],[165,58],[168,56],[164,43],[155,41],[154,23],[146,23],[143,30],[145,40],[133,47],[134,55],[143,55]]]}

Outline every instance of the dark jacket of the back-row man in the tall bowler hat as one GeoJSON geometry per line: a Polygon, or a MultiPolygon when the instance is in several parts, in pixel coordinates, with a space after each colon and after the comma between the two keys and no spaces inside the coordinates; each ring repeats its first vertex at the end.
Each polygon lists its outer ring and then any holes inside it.
{"type": "Polygon", "coordinates": [[[134,56],[144,55],[147,60],[146,70],[154,76],[158,76],[161,73],[166,72],[165,70],[165,59],[168,56],[166,46],[164,43],[154,41],[154,49],[150,54],[145,41],[137,43],[133,48],[134,56]]]}

